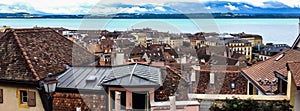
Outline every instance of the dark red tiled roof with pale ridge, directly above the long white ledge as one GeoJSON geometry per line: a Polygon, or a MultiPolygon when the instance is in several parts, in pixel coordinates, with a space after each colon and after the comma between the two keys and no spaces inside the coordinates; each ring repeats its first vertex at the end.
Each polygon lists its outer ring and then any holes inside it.
{"type": "Polygon", "coordinates": [[[247,80],[241,75],[241,66],[200,65],[196,71],[195,93],[200,94],[247,94],[247,80]],[[210,73],[215,74],[215,83],[210,84],[210,73]],[[235,89],[230,83],[235,83],[235,89]]]}

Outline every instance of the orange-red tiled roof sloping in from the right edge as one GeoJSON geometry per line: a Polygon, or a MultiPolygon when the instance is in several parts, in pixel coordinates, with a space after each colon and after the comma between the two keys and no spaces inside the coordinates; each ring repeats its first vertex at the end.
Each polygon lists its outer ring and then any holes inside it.
{"type": "MultiPolygon", "coordinates": [[[[252,67],[243,69],[243,74],[250,79],[256,86],[258,86],[262,91],[271,91],[270,86],[262,86],[257,82],[258,78],[264,80],[265,78],[272,80],[275,77],[274,71],[279,72],[283,76],[287,76],[286,64],[288,61],[300,61],[300,51],[298,50],[286,50],[283,51],[272,58],[259,62],[252,65],[252,67]],[[280,56],[284,55],[282,58],[280,56]],[[277,60],[276,60],[277,59],[277,60]]],[[[277,87],[273,87],[272,91],[276,91],[277,87]]]]}

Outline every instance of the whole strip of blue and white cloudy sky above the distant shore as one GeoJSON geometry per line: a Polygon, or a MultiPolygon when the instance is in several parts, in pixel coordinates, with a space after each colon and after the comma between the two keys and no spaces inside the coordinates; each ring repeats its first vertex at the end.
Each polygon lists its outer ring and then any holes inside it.
{"type": "Polygon", "coordinates": [[[1,0],[0,13],[299,12],[300,0],[1,0]]]}

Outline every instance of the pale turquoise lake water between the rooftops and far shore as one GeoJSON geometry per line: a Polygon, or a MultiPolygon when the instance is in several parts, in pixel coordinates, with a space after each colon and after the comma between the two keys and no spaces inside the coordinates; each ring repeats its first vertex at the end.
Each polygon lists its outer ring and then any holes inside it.
{"type": "Polygon", "coordinates": [[[245,32],[262,35],[264,43],[288,45],[292,45],[298,36],[298,19],[0,19],[0,25],[13,28],[38,26],[109,31],[153,28],[173,33],[245,32]]]}

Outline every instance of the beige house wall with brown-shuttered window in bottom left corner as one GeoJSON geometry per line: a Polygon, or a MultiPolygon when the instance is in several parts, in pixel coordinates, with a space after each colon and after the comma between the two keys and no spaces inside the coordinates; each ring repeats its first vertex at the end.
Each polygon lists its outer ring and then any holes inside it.
{"type": "Polygon", "coordinates": [[[0,93],[1,111],[44,111],[36,88],[1,83],[0,93]]]}

